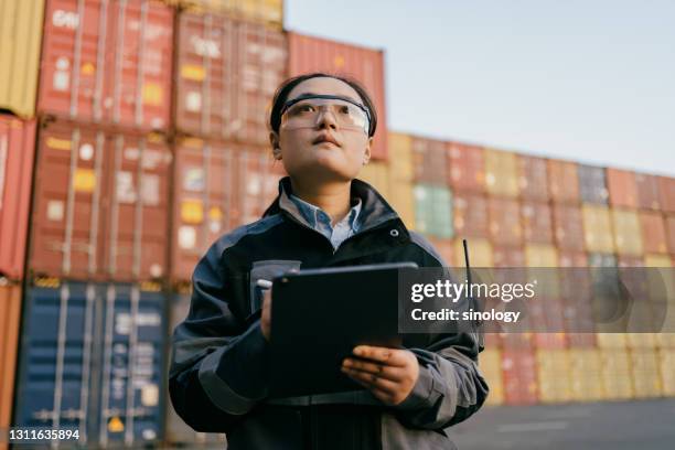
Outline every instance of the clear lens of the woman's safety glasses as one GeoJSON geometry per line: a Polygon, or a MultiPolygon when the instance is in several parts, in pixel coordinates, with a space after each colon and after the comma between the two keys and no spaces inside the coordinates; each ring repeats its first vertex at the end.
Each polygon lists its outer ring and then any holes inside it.
{"type": "Polygon", "coordinates": [[[339,99],[309,98],[291,105],[281,116],[286,128],[313,128],[319,116],[331,113],[336,124],[343,128],[368,130],[366,113],[349,101],[339,99]]]}

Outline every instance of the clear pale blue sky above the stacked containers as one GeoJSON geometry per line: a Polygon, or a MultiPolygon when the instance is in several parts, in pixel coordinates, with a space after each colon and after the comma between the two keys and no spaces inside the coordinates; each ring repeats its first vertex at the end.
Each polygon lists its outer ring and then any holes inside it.
{"type": "Polygon", "coordinates": [[[393,130],[675,175],[675,0],[286,0],[386,51],[393,130]]]}

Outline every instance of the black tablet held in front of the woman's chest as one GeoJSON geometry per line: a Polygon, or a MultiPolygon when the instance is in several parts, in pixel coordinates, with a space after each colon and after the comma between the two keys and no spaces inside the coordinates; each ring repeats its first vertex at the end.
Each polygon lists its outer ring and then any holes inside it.
{"type": "Polygon", "coordinates": [[[271,397],[355,390],[340,372],[360,344],[400,347],[398,275],[415,262],[309,269],[274,279],[271,397]]]}

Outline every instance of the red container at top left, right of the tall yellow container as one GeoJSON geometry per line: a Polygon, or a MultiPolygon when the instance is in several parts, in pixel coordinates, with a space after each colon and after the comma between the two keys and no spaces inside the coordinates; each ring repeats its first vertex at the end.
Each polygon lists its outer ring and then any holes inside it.
{"type": "Polygon", "coordinates": [[[160,1],[49,0],[40,113],[165,130],[173,10],[160,1]]]}

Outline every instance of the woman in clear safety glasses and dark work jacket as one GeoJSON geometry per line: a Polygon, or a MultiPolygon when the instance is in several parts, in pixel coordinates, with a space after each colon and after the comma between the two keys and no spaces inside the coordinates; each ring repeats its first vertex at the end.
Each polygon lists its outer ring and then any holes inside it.
{"type": "Polygon", "coordinates": [[[264,217],[222,236],[194,270],[190,313],[173,335],[176,413],[197,431],[225,432],[232,450],[454,448],[443,429],[488,395],[473,333],[404,340],[405,350],[361,345],[341,369],[365,389],[268,398],[274,319],[270,296],[257,294],[259,279],[297,268],[443,266],[356,180],[377,125],[358,83],[323,73],[290,78],[275,95],[269,125],[274,158],[289,176],[264,217]]]}

